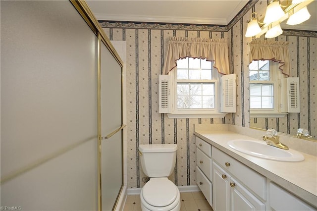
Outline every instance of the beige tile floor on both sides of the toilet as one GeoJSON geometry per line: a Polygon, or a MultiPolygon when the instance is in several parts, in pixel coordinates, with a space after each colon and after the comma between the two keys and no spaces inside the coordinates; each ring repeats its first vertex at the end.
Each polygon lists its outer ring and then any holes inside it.
{"type": "MultiPolygon", "coordinates": [[[[182,192],[180,200],[180,211],[212,211],[202,192],[182,192]]],[[[123,211],[141,211],[140,195],[128,195],[123,211]]]]}

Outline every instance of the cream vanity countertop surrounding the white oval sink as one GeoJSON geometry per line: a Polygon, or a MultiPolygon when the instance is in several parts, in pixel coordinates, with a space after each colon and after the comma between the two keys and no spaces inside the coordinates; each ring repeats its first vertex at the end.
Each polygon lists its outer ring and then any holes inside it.
{"type": "Polygon", "coordinates": [[[196,129],[194,134],[317,208],[317,157],[300,152],[305,157],[301,162],[257,158],[231,149],[227,142],[234,139],[260,139],[231,131],[196,129]]]}

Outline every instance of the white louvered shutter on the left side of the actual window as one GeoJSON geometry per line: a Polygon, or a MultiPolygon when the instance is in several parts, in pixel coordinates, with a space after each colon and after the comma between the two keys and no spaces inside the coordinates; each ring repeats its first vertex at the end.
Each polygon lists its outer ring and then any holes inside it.
{"type": "Polygon", "coordinates": [[[159,113],[171,112],[171,76],[159,75],[159,113]]]}

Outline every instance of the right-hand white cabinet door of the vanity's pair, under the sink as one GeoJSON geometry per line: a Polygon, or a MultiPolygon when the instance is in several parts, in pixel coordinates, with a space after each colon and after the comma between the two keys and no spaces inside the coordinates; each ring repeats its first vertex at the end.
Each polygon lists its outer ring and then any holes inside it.
{"type": "Polygon", "coordinates": [[[265,211],[265,205],[234,178],[230,178],[231,211],[265,211]]]}

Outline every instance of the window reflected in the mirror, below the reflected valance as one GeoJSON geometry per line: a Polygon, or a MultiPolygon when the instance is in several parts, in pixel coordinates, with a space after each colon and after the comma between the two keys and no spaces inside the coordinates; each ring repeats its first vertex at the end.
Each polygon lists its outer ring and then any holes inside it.
{"type": "Polygon", "coordinates": [[[278,63],[254,60],[249,64],[250,112],[261,115],[280,113],[280,79],[284,78],[278,63]]]}

